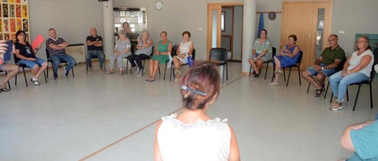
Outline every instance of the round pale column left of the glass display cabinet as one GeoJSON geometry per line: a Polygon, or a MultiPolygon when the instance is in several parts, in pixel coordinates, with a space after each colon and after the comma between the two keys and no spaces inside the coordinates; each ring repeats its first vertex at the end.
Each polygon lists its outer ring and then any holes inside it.
{"type": "Polygon", "coordinates": [[[102,2],[104,14],[104,54],[106,59],[110,59],[114,49],[114,16],[113,0],[102,2]]]}

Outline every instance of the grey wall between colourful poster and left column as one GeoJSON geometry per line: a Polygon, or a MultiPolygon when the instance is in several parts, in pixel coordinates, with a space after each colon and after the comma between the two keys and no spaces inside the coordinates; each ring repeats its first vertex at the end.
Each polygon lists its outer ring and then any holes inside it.
{"type": "MultiPolygon", "coordinates": [[[[102,3],[97,0],[29,0],[31,40],[37,34],[47,39],[48,29],[55,28],[57,36],[70,44],[85,44],[90,27],[103,36],[102,3]]],[[[38,57],[46,58],[45,43],[38,57]]]]}

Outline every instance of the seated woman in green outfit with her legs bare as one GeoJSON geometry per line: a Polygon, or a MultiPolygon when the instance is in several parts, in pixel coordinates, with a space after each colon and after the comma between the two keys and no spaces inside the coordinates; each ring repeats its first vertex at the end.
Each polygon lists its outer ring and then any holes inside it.
{"type": "Polygon", "coordinates": [[[150,76],[145,80],[152,82],[155,80],[156,72],[159,69],[159,63],[164,64],[169,60],[169,54],[172,53],[172,42],[167,38],[167,32],[160,33],[161,40],[158,43],[157,49],[150,59],[150,76]]]}

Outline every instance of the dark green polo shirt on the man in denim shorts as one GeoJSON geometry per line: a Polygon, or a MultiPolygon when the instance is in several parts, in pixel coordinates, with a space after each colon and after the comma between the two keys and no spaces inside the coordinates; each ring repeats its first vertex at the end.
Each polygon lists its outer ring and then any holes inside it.
{"type": "Polygon", "coordinates": [[[340,60],[341,62],[346,60],[344,49],[342,49],[340,46],[333,50],[331,47],[327,47],[323,50],[320,56],[323,57],[321,61],[322,64],[332,64],[336,59],[340,60]]]}

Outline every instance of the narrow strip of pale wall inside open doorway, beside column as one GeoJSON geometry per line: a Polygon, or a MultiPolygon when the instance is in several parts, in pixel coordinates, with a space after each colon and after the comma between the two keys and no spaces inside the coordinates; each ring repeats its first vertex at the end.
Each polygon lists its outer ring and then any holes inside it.
{"type": "Polygon", "coordinates": [[[233,57],[241,59],[242,55],[242,30],[243,30],[243,6],[234,7],[234,44],[233,57]]]}

